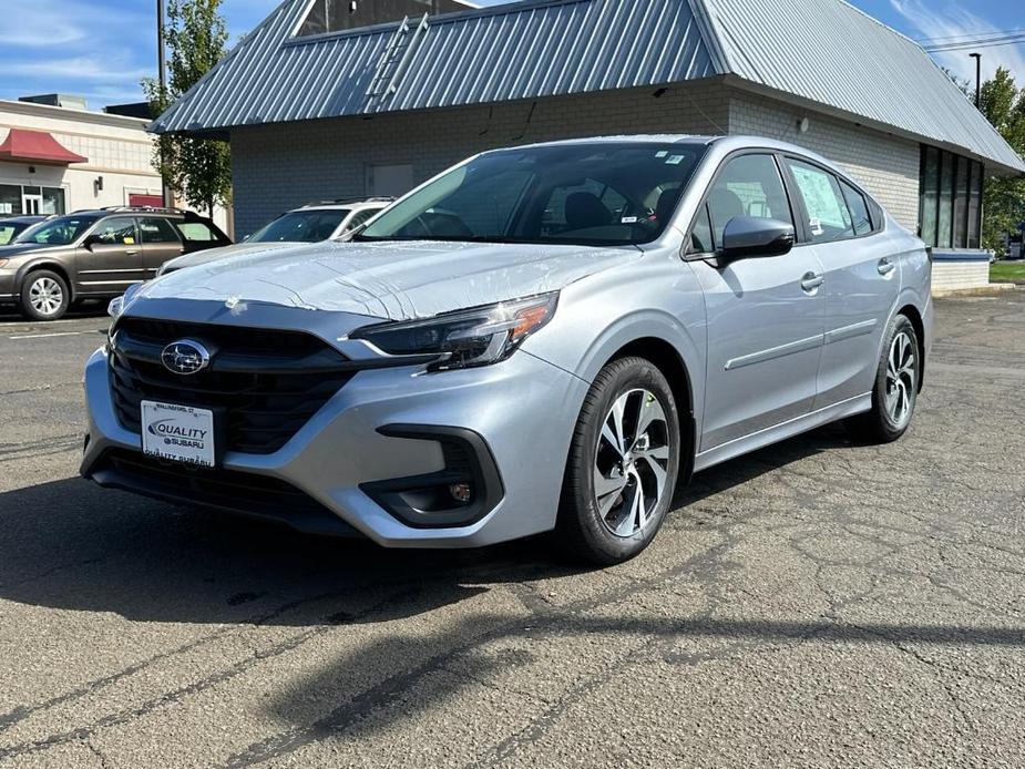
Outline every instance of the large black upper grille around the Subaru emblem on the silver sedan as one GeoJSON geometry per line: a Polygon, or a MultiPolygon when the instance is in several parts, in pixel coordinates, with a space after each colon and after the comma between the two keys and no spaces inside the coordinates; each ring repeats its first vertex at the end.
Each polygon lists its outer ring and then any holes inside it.
{"type": "Polygon", "coordinates": [[[110,378],[121,425],[141,432],[152,400],[223,414],[225,448],[270,454],[283,448],[353,376],[336,349],[308,334],[123,318],[111,345],[110,378]],[[199,341],[207,369],[191,376],[161,362],[167,345],[199,341]]]}

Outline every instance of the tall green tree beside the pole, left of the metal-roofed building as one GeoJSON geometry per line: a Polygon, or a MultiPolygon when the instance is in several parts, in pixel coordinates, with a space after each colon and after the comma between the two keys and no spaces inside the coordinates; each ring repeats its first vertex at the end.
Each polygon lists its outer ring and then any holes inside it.
{"type": "MultiPolygon", "coordinates": [[[[219,13],[222,0],[170,0],[164,32],[167,49],[167,85],[147,78],[143,88],[154,115],[161,115],[227,53],[228,40],[219,13]]],[[[213,214],[232,195],[232,161],[228,145],[194,136],[160,136],[154,164],[175,196],[213,214]]]]}

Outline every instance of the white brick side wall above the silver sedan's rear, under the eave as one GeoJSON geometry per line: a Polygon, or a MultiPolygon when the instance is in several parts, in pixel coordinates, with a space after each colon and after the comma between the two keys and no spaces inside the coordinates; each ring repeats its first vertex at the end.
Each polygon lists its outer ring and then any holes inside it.
{"type": "Polygon", "coordinates": [[[828,157],[864,185],[898,222],[916,229],[918,143],[742,91],[730,98],[729,130],[779,139],[828,157]],[[798,122],[804,116],[809,130],[801,133],[798,122]]]}

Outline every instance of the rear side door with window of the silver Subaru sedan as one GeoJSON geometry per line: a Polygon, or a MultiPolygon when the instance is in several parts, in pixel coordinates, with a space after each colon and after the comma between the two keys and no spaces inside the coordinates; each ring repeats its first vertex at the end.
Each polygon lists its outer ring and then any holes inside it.
{"type": "Polygon", "coordinates": [[[863,193],[804,158],[788,157],[786,165],[826,270],[826,339],[814,404],[821,409],[872,390],[900,268],[863,193]]]}

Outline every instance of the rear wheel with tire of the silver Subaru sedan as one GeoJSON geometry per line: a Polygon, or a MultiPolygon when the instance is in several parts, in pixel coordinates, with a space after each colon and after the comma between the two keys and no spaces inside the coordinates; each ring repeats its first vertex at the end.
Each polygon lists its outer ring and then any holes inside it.
{"type": "Polygon", "coordinates": [[[908,431],[919,398],[921,358],[914,324],[905,315],[896,316],[890,324],[879,359],[872,410],[844,421],[853,438],[892,443],[908,431]]]}

